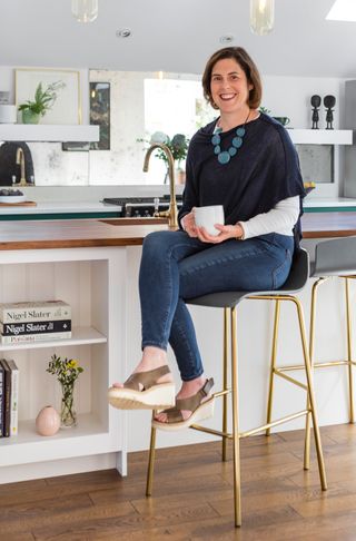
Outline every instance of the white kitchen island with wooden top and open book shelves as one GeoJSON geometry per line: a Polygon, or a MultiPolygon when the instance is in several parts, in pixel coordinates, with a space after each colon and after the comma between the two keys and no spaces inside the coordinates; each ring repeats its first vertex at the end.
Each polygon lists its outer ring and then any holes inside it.
{"type": "MultiPolygon", "coordinates": [[[[305,245],[325,236],[356,234],[356,213],[305,215],[305,245]]],[[[72,307],[72,337],[62,341],[0,345],[1,355],[14,358],[20,370],[19,434],[0,439],[1,483],[65,473],[117,468],[127,473],[127,451],[147,449],[149,412],[118,412],[108,406],[107,387],[123,381],[140,355],[140,314],[137,277],[144,238],[167,229],[164,220],[145,218],[105,220],[6,222],[0,229],[0,293],[3,302],[61,298],[72,307]],[[78,358],[85,367],[77,390],[78,426],[51,437],[36,433],[34,419],[47,404],[59,406],[56,380],[46,372],[50,356],[78,358]],[[129,420],[129,423],[128,423],[129,420]],[[138,430],[139,427],[139,430],[138,430]]],[[[312,282],[312,281],[310,281],[312,282]]],[[[329,286],[325,286],[326,288],[329,286]]],[[[338,284],[329,288],[337,293],[338,284]]],[[[309,287],[300,294],[308,314],[309,287]]],[[[159,299],[158,299],[159,302],[159,299]]],[[[221,311],[191,307],[207,375],[220,383],[221,311]]],[[[332,324],[322,353],[344,347],[337,311],[319,319],[332,324]],[[333,319],[334,317],[334,319],[333,319]]],[[[286,314],[281,322],[280,350],[291,364],[301,360],[297,337],[289,336],[286,314]],[[300,357],[300,358],[299,358],[300,357]]],[[[269,362],[273,306],[245,302],[239,307],[238,335],[241,377],[241,429],[263,424],[269,362]],[[258,306],[257,306],[258,304],[258,306]],[[265,306],[261,306],[265,305],[265,306]],[[256,340],[258,336],[258,340],[256,340]]],[[[171,352],[170,364],[178,381],[171,352]]],[[[332,372],[332,371],[330,371],[332,372]]],[[[344,378],[335,373],[317,374],[320,424],[347,420],[344,378]],[[323,385],[318,385],[319,377],[323,385]]],[[[276,387],[276,407],[284,415],[304,401],[298,390],[276,387]]],[[[208,425],[218,427],[220,405],[208,425]]],[[[299,423],[299,424],[298,424],[299,423]]],[[[289,429],[299,427],[296,421],[289,429]]],[[[159,434],[158,445],[210,441],[207,434],[182,431],[172,437],[159,434]]]]}

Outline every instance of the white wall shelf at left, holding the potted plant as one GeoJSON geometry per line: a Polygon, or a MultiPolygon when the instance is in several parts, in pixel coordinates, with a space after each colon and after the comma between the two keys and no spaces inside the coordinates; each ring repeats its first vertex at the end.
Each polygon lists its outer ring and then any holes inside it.
{"type": "Polygon", "coordinates": [[[75,142],[98,141],[99,126],[55,126],[44,124],[0,124],[0,141],[75,142]]]}

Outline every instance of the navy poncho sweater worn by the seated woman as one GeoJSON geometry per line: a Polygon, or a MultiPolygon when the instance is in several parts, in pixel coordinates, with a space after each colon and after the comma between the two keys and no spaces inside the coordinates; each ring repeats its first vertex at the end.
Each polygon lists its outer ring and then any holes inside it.
{"type": "MultiPolygon", "coordinates": [[[[298,195],[301,201],[305,190],[298,155],[279,122],[260,114],[256,120],[246,124],[243,146],[226,165],[221,165],[214,154],[215,125],[216,120],[199,129],[190,141],[179,220],[192,207],[222,205],[225,224],[234,225],[267,213],[287,197],[298,195]]],[[[221,150],[231,146],[236,128],[220,134],[221,150]]],[[[295,237],[298,243],[299,220],[295,237]]]]}

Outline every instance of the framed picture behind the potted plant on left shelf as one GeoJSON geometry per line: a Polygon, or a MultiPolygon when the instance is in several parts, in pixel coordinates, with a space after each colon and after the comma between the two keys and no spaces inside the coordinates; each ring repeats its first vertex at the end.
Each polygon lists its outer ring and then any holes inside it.
{"type": "Polygon", "coordinates": [[[81,99],[79,71],[49,68],[20,68],[16,70],[14,94],[16,105],[33,101],[38,85],[42,89],[53,82],[62,82],[57,91],[52,107],[41,117],[41,124],[81,124],[81,99]]]}

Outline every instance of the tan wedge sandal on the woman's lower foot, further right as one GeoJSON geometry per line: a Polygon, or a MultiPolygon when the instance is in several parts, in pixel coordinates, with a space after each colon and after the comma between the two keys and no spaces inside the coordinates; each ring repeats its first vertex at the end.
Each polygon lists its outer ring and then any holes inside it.
{"type": "Polygon", "coordinates": [[[196,394],[189,396],[189,399],[177,399],[175,407],[160,412],[167,414],[167,422],[160,423],[159,421],[154,420],[152,426],[155,429],[167,431],[182,430],[188,429],[198,421],[212,417],[215,396],[205,400],[209,395],[212,385],[214,380],[210,377],[210,380],[207,380],[204,386],[196,394]],[[191,415],[186,420],[184,420],[181,414],[184,410],[191,412],[191,415]]]}

